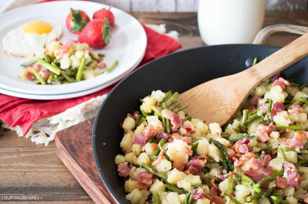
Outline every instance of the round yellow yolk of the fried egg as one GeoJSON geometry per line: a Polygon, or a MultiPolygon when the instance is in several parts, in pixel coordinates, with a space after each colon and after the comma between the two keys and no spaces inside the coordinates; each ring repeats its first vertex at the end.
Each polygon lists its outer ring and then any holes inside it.
{"type": "Polygon", "coordinates": [[[32,21],[27,23],[22,29],[24,33],[43,34],[49,33],[52,30],[52,26],[45,21],[32,21]]]}

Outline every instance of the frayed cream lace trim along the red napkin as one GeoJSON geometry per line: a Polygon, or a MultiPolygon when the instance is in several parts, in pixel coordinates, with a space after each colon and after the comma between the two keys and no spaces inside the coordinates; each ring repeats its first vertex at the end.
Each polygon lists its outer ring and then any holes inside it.
{"type": "MultiPolygon", "coordinates": [[[[158,33],[168,35],[176,40],[179,39],[179,33],[177,31],[172,30],[169,33],[166,33],[166,24],[146,24],[146,26],[158,33]]],[[[31,141],[36,144],[45,144],[45,146],[47,146],[49,142],[55,139],[55,134],[58,131],[95,117],[99,106],[102,104],[106,96],[107,94],[104,94],[102,96],[97,96],[96,98],[91,98],[90,100],[69,108],[62,113],[36,121],[31,126],[25,137],[31,137],[31,141]]],[[[2,126],[4,128],[16,131],[18,136],[22,137],[22,129],[18,125],[15,127],[9,127],[2,121],[2,126]]]]}

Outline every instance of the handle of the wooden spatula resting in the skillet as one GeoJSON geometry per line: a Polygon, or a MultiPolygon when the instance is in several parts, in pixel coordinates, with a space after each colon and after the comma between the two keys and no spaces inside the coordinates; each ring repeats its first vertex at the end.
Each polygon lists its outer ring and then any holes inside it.
{"type": "MultiPolygon", "coordinates": [[[[279,73],[308,55],[308,33],[290,44],[274,52],[255,66],[241,73],[243,79],[251,80],[251,84],[260,84],[265,79],[279,73]]],[[[245,80],[243,80],[245,81],[245,80]]]]}

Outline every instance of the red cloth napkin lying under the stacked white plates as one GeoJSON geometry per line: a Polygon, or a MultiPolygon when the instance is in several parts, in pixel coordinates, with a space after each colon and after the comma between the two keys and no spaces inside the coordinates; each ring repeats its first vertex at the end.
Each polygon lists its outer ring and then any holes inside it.
{"type": "MultiPolygon", "coordinates": [[[[182,47],[177,40],[157,33],[145,25],[142,26],[147,34],[148,44],[144,58],[138,67],[182,47]]],[[[86,96],[51,101],[17,98],[0,94],[0,119],[10,127],[19,125],[23,136],[25,136],[35,121],[59,114],[91,98],[103,95],[113,87],[114,85],[86,96]]]]}

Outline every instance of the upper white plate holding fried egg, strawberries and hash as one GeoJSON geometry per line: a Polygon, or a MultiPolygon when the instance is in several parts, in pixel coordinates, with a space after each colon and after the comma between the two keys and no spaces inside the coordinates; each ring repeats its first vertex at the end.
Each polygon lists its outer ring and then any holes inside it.
{"type": "MultiPolygon", "coordinates": [[[[65,26],[65,19],[70,12],[70,8],[83,10],[92,18],[95,11],[107,7],[109,6],[95,2],[55,1],[8,11],[0,15],[0,47],[2,48],[2,38],[8,31],[34,20],[55,22],[62,25],[61,42],[67,39],[76,40],[78,36],[69,33],[65,26]]],[[[130,14],[113,7],[111,11],[115,16],[115,27],[112,30],[111,42],[105,48],[96,50],[106,55],[104,62],[107,67],[111,66],[115,60],[119,60],[119,65],[111,73],[70,84],[36,85],[31,81],[18,79],[18,73],[22,69],[20,64],[26,61],[25,58],[8,56],[4,52],[0,52],[0,88],[23,94],[56,95],[90,90],[104,84],[111,84],[112,81],[120,78],[128,70],[131,70],[137,61],[143,58],[147,37],[142,25],[130,14]]],[[[0,93],[5,94],[2,90],[0,90],[0,93]]]]}

